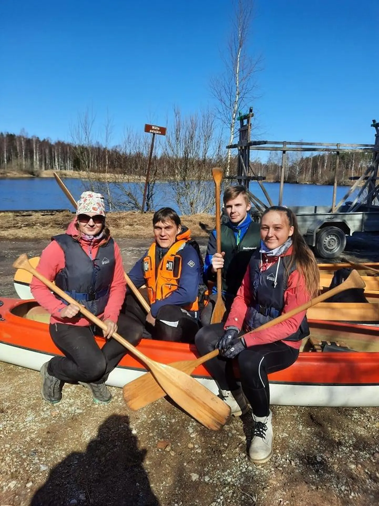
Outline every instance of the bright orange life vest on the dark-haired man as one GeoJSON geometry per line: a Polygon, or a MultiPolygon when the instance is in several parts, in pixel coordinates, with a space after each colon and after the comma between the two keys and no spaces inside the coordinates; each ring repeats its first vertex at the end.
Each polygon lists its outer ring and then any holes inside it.
{"type": "MultiPolygon", "coordinates": [[[[143,270],[145,283],[148,288],[150,305],[155,301],[165,299],[172,291],[179,286],[182,258],[177,255],[183,249],[186,242],[191,239],[191,232],[185,230],[176,236],[176,242],[170,247],[166,255],[161,259],[158,268],[155,265],[156,243],[150,246],[148,255],[144,258],[143,270]],[[157,275],[156,275],[157,273],[157,275]]],[[[199,311],[199,301],[196,298],[191,304],[184,306],[187,311],[199,311]]]]}

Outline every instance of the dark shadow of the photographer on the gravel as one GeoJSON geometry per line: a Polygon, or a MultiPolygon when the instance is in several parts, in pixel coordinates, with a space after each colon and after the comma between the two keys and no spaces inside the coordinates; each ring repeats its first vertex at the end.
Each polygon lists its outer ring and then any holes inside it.
{"type": "Polygon", "coordinates": [[[34,494],[30,506],[159,506],[129,417],[112,415],[86,451],[68,455],[34,494]]]}

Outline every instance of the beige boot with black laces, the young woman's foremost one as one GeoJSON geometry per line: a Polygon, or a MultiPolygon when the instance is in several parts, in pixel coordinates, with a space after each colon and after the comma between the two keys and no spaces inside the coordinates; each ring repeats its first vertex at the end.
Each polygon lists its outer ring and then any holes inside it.
{"type": "Polygon", "coordinates": [[[268,416],[255,416],[253,413],[254,428],[253,439],[249,448],[249,458],[255,464],[263,464],[272,455],[272,413],[268,416]]]}

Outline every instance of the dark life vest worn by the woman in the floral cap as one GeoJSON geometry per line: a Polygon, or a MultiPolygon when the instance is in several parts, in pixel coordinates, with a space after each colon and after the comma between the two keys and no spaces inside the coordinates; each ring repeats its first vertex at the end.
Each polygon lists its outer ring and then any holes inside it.
{"type": "Polygon", "coordinates": [[[65,267],[58,272],[56,285],[92,314],[104,313],[116,264],[113,239],[98,248],[93,260],[71,235],[56,235],[52,240],[58,242],[65,255],[65,267]]]}

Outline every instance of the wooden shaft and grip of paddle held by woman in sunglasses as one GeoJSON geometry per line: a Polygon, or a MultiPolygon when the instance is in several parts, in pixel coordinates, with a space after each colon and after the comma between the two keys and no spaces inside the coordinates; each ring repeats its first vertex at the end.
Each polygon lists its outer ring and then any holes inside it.
{"type": "MultiPolygon", "coordinates": [[[[65,291],[61,290],[57,285],[55,285],[52,281],[50,281],[48,278],[45,278],[40,272],[36,271],[34,267],[30,264],[28,257],[25,254],[22,254],[19,256],[17,260],[13,263],[13,267],[16,269],[24,269],[25,271],[30,272],[35,276],[37,279],[39,279],[43,284],[45,284],[48,288],[50,288],[52,291],[57,293],[59,297],[64,299],[69,304],[75,304],[75,306],[78,306],[80,309],[80,312],[91,322],[96,324],[98,327],[102,328],[103,330],[107,330],[107,325],[97,316],[93,315],[90,311],[88,311],[87,308],[79,304],[75,299],[70,297],[65,291]]],[[[135,348],[133,345],[131,345],[128,341],[126,341],[120,334],[117,332],[113,332],[112,337],[118,341],[120,344],[125,346],[127,350],[129,350],[133,355],[138,357],[142,362],[144,362],[147,365],[151,364],[151,360],[146,357],[143,353],[141,353],[137,348],[135,348]]]]}

